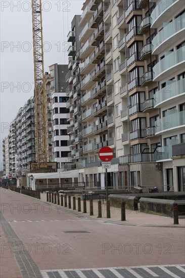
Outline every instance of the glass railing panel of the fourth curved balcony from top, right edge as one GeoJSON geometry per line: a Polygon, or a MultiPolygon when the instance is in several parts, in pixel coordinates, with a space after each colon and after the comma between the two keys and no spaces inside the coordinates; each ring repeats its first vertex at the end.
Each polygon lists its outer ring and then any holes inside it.
{"type": "Polygon", "coordinates": [[[168,80],[166,87],[155,93],[155,106],[181,94],[185,94],[185,78],[178,81],[168,80]]]}

